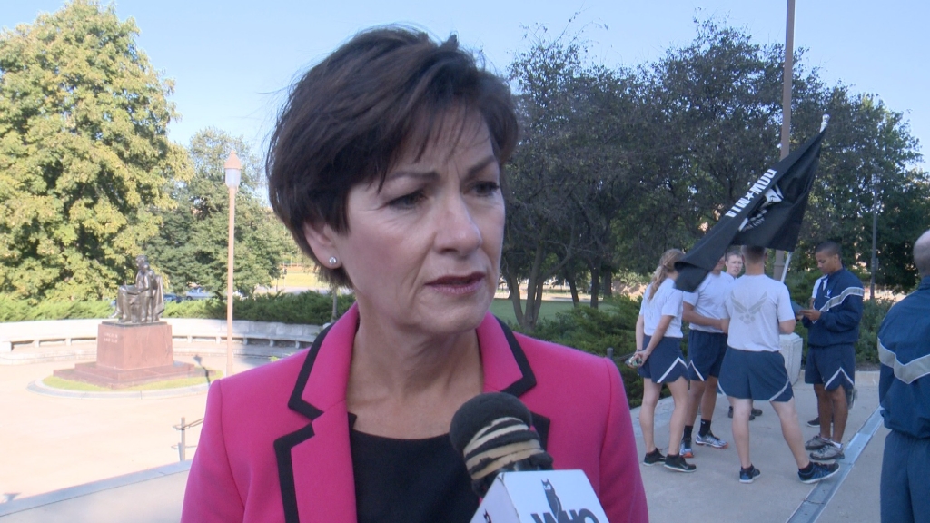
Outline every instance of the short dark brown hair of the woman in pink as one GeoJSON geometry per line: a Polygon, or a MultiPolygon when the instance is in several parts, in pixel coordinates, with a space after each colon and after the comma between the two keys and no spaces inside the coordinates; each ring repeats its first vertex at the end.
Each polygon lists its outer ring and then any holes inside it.
{"type": "Polygon", "coordinates": [[[268,146],[269,200],[328,280],[351,285],[341,267],[319,263],[304,225],[324,222],[348,233],[352,187],[383,183],[411,148],[423,154],[451,110],[480,114],[499,164],[510,159],[517,141],[510,88],[458,47],[455,35],[438,43],[405,27],[365,31],[291,87],[268,146]]]}

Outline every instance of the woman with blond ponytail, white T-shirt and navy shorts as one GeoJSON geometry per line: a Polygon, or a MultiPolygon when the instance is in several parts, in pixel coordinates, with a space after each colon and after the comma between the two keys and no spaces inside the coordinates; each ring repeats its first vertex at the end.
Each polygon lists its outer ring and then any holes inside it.
{"type": "Polygon", "coordinates": [[[658,262],[652,282],[645,289],[640,315],[636,319],[636,347],[633,359],[641,362],[643,405],[640,426],[645,441],[644,464],[663,463],[676,472],[694,472],[697,466],[684,461],[679,452],[687,409],[687,365],[682,355],[682,291],[675,288],[675,262],[684,258],[677,248],[667,250],[658,262]],[[669,423],[669,455],[656,447],[655,416],[662,384],[669,386],[674,409],[669,423]]]}

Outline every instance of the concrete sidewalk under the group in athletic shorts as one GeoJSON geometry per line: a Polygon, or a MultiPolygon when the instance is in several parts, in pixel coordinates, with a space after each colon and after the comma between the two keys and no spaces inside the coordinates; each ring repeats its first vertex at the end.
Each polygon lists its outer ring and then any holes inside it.
{"type": "MultiPolygon", "coordinates": [[[[817,434],[807,427],[806,420],[817,416],[817,398],[811,385],[799,380],[794,384],[794,396],[804,440],[817,434]]],[[[878,372],[857,373],[858,397],[849,413],[844,444],[848,444],[878,407],[878,372]]],[[[697,464],[694,474],[672,472],[661,466],[640,465],[650,520],[678,523],[681,521],[878,521],[879,474],[882,468],[884,429],[872,437],[856,458],[846,450],[847,457],[839,463],[841,475],[817,485],[805,485],[798,480],[797,465],[781,436],[775,410],[767,403],[756,403],[763,415],[750,422],[751,459],[762,476],[751,484],[738,480],[739,459],[733,444],[731,421],[726,417],[729,403],[717,396],[712,418],[713,433],[730,442],[726,449],[711,449],[695,445],[697,464]],[[844,476],[844,469],[848,475],[844,476]],[[836,486],[835,495],[831,490],[836,486]],[[807,503],[804,503],[808,500],[807,503]],[[799,507],[804,504],[804,510],[799,507]],[[795,514],[797,512],[797,514],[795,514]],[[817,514],[810,514],[817,513],[817,514]],[[817,518],[819,516],[819,518],[817,518]]],[[[671,397],[659,402],[656,412],[656,443],[660,449],[668,446],[671,397]]],[[[639,432],[639,409],[631,412],[637,433],[637,449],[644,455],[644,443],[639,432]]],[[[697,435],[697,427],[695,428],[697,435]]],[[[859,441],[864,436],[859,436],[859,441]]]]}

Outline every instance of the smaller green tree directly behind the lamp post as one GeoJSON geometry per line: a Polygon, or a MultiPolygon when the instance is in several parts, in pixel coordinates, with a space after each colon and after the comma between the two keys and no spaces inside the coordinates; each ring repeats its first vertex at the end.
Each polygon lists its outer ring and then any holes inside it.
{"type": "Polygon", "coordinates": [[[293,244],[271,208],[261,205],[259,158],[246,141],[215,128],[198,131],[189,148],[193,178],[175,186],[177,209],[163,216],[161,234],[147,247],[175,290],[195,283],[219,296],[225,292],[229,190],[223,182],[223,163],[232,150],[243,164],[235,206],[236,290],[250,296],[259,285],[270,284],[293,244]]]}

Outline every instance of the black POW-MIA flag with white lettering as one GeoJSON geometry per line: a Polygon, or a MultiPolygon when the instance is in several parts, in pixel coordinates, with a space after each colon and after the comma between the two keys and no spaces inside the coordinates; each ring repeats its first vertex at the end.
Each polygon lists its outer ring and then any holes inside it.
{"type": "Polygon", "coordinates": [[[817,163],[821,130],[796,151],[778,161],[727,210],[697,245],[675,263],[675,288],[694,292],[731,245],[794,250],[804,221],[817,163]]]}

